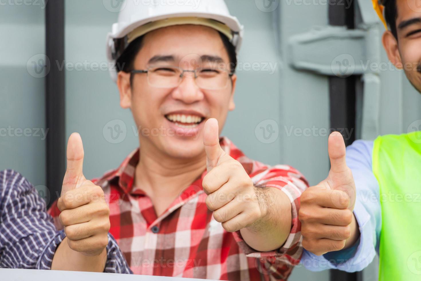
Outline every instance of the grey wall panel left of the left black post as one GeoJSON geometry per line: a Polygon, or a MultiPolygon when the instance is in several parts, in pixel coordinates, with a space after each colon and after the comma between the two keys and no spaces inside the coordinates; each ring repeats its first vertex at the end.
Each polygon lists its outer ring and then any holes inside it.
{"type": "Polygon", "coordinates": [[[37,63],[36,55],[45,53],[45,10],[16,3],[0,8],[0,169],[14,169],[33,185],[45,185],[45,81],[27,70],[27,63],[37,63]]]}

